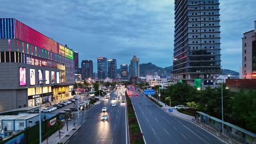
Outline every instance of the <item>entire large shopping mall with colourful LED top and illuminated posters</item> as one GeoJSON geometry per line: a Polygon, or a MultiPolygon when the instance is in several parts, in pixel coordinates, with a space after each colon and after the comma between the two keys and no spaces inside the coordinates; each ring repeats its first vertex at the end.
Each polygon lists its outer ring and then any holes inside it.
{"type": "Polygon", "coordinates": [[[73,84],[71,49],[14,18],[0,18],[0,111],[67,99],[73,84]],[[40,88],[38,80],[46,80],[40,88]]]}

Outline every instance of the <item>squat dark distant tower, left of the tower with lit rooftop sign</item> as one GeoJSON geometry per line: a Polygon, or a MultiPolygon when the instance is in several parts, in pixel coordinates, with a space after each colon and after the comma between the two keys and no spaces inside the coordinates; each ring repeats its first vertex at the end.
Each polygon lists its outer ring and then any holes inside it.
{"type": "Polygon", "coordinates": [[[91,60],[83,60],[81,63],[82,79],[93,78],[93,63],[91,60]]]}

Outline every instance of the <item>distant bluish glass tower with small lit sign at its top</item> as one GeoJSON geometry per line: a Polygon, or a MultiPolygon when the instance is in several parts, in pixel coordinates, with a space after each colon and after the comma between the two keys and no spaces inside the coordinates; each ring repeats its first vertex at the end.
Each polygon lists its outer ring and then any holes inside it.
{"type": "Polygon", "coordinates": [[[108,63],[106,57],[98,57],[98,79],[105,79],[108,76],[108,63]]]}

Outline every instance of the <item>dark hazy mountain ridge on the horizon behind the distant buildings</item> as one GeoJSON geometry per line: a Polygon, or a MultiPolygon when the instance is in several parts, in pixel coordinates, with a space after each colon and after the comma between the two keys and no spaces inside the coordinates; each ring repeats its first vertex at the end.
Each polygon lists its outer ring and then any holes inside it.
{"type": "MultiPolygon", "coordinates": [[[[158,70],[159,70],[161,74],[164,71],[166,71],[166,74],[170,75],[170,72],[173,71],[173,66],[168,66],[168,67],[162,68],[162,67],[156,66],[153,63],[142,63],[142,64],[139,65],[140,76],[145,76],[146,71],[151,73],[152,70],[154,72],[158,72],[158,70]]],[[[228,69],[221,69],[221,70],[223,72],[223,73],[221,73],[221,75],[229,75],[229,74],[230,75],[236,75],[236,76],[239,75],[239,72],[236,72],[236,71],[232,71],[232,70],[228,70],[228,69]]],[[[121,70],[117,69],[117,73],[120,73],[120,72],[121,72],[121,70]]]]}

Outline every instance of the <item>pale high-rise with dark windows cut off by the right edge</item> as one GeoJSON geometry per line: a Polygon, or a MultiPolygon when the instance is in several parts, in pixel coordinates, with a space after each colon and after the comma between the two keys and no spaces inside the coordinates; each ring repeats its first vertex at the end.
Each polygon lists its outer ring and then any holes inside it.
{"type": "Polygon", "coordinates": [[[242,79],[256,79],[256,21],[242,38],[242,79]]]}

